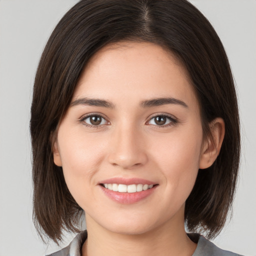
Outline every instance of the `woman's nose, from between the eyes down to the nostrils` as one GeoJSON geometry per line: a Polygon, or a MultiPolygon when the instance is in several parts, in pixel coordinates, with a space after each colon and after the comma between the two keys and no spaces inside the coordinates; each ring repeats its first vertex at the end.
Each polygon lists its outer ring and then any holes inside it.
{"type": "Polygon", "coordinates": [[[117,128],[110,138],[108,161],[123,169],[133,169],[147,162],[146,143],[134,127],[117,128]]]}

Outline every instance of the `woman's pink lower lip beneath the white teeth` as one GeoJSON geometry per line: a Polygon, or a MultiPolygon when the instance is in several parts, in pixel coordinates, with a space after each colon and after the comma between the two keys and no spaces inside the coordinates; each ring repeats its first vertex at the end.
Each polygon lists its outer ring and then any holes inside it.
{"type": "Polygon", "coordinates": [[[140,192],[134,192],[134,193],[125,193],[125,192],[118,192],[118,191],[112,191],[109,190],[101,185],[99,185],[102,189],[102,191],[112,200],[115,202],[123,203],[123,204],[130,204],[134,202],[138,202],[147,196],[149,196],[151,193],[154,192],[156,186],[153,186],[152,188],[149,188],[147,190],[142,190],[140,192]]]}

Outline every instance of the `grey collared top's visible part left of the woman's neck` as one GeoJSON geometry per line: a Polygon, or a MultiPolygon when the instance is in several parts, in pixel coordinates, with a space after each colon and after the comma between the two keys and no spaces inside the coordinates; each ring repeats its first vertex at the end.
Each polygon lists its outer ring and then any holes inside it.
{"type": "Polygon", "coordinates": [[[53,252],[46,256],[80,256],[82,244],[87,238],[87,231],[78,233],[73,240],[63,249],[53,252]]]}

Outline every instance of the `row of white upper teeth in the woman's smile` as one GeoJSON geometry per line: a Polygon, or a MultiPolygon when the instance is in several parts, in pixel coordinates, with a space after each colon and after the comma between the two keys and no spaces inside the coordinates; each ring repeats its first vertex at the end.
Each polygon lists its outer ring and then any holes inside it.
{"type": "Polygon", "coordinates": [[[112,191],[118,191],[118,192],[127,192],[127,193],[134,193],[134,192],[140,192],[142,190],[147,190],[153,187],[153,184],[131,184],[131,185],[125,185],[125,184],[103,184],[105,188],[112,190],[112,191]]]}

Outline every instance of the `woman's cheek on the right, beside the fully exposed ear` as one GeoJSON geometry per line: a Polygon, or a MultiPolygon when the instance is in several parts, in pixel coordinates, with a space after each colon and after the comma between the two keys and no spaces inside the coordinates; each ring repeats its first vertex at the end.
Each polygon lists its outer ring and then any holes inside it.
{"type": "Polygon", "coordinates": [[[173,132],[155,140],[152,158],[161,170],[166,186],[175,196],[189,195],[199,169],[202,132],[194,130],[173,132]]]}

